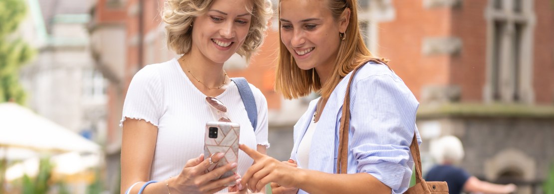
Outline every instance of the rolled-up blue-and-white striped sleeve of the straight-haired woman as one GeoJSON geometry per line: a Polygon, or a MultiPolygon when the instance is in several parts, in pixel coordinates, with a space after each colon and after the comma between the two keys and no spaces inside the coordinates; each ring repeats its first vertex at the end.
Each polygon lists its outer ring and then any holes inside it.
{"type": "Polygon", "coordinates": [[[410,157],[418,102],[394,75],[372,75],[351,92],[352,157],[358,172],[367,172],[402,193],[409,187],[410,157]]]}

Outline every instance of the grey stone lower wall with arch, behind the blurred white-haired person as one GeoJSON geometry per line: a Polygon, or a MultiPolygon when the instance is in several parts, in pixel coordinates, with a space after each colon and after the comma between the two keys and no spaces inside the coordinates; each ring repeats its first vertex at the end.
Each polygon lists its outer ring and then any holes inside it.
{"type": "Polygon", "coordinates": [[[540,193],[554,162],[554,119],[547,117],[419,118],[424,173],[435,164],[433,140],[458,137],[465,151],[459,166],[479,179],[512,182],[517,193],[540,193]]]}

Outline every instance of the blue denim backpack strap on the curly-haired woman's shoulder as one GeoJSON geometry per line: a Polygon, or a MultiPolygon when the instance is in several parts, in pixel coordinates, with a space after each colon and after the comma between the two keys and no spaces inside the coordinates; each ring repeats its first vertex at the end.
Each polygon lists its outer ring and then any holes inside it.
{"type": "Polygon", "coordinates": [[[246,108],[246,112],[248,113],[248,119],[250,119],[250,124],[252,124],[254,131],[256,131],[258,123],[258,108],[256,107],[254,94],[252,93],[252,90],[250,90],[248,81],[246,81],[244,77],[233,77],[231,80],[235,82],[235,84],[237,84],[237,88],[239,88],[240,98],[242,98],[244,108],[246,108]]]}

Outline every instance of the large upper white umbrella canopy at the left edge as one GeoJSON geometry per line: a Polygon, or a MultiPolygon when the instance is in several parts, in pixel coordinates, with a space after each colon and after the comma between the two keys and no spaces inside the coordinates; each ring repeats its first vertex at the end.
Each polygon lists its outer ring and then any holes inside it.
{"type": "Polygon", "coordinates": [[[100,146],[93,141],[15,103],[0,103],[1,147],[37,151],[100,152],[100,146]]]}

